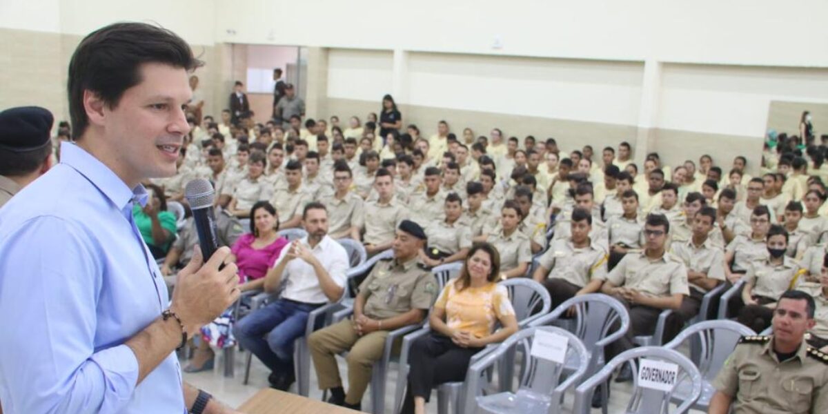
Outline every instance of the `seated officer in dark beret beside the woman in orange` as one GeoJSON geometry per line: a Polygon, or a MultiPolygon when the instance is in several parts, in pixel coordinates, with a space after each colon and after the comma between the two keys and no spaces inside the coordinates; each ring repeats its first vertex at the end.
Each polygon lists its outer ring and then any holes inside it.
{"type": "Polygon", "coordinates": [[[331,404],[360,408],[371,381],[373,363],[383,357],[388,332],[420,323],[438,293],[431,272],[417,260],[426,243],[426,232],[411,220],[397,227],[394,257],[373,267],[359,286],[354,317],[342,320],[308,337],[308,347],[319,378],[319,388],[330,389],[331,404]],[[349,351],[348,393],[342,388],[335,355],[349,351]]]}

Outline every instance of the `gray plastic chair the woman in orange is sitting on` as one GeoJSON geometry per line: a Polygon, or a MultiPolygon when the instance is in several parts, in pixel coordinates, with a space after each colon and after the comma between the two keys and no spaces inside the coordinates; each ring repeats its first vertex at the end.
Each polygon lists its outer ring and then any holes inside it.
{"type": "MultiPolygon", "coordinates": [[[[522,278],[508,279],[506,281],[499,282],[499,284],[505,286],[506,291],[508,291],[509,300],[512,301],[512,307],[515,310],[518,329],[527,326],[532,322],[532,320],[537,320],[537,318],[542,315],[546,315],[546,313],[549,312],[552,300],[549,296],[549,291],[546,291],[546,287],[542,284],[530,279],[522,278]]],[[[402,339],[400,361],[406,362],[401,363],[400,373],[397,377],[397,391],[394,393],[394,407],[397,411],[402,408],[402,397],[407,385],[407,361],[411,344],[414,339],[428,334],[429,331],[430,329],[427,328],[419,330],[402,339]],[[405,368],[402,368],[403,365],[405,368]]],[[[485,355],[489,354],[489,352],[493,351],[493,349],[496,349],[497,347],[498,344],[489,344],[484,349],[481,349],[477,354],[474,354],[469,361],[469,365],[476,363],[479,359],[482,359],[485,355]]],[[[508,354],[500,360],[498,368],[500,389],[506,390],[511,388],[511,378],[514,370],[514,354],[508,354]]],[[[464,383],[460,382],[443,383],[437,387],[437,412],[440,412],[440,414],[448,413],[449,404],[454,407],[455,412],[463,412],[462,407],[460,407],[463,403],[460,395],[463,389],[463,384],[464,383]]]]}

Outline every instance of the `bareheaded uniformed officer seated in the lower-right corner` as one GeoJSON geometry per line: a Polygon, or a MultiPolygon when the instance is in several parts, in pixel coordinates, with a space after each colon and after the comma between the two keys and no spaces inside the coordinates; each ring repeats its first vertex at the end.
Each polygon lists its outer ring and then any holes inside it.
{"type": "Polygon", "coordinates": [[[828,355],[812,348],[814,299],[786,291],[773,310],[773,335],[739,339],[713,383],[710,414],[828,412],[828,355]]]}

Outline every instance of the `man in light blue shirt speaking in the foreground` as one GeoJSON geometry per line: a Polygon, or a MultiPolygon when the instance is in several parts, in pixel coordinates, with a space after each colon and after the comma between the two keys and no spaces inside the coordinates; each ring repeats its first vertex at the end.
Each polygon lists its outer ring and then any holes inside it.
{"type": "Polygon", "coordinates": [[[195,253],[171,304],[132,220],[189,132],[187,70],[170,31],[118,23],[69,70],[76,143],[0,211],[0,403],[16,413],[227,413],[183,384],[174,350],[238,298],[229,249],[195,253]]]}

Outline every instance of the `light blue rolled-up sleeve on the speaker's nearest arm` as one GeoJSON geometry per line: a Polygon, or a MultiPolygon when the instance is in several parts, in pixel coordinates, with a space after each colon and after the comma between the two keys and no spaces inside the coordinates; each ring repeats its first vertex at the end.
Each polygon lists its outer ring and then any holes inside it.
{"type": "Polygon", "coordinates": [[[95,350],[103,269],[93,260],[93,243],[75,224],[54,217],[31,219],[8,236],[15,242],[0,244],[3,406],[122,411],[135,390],[138,363],[126,345],[95,350]]]}

